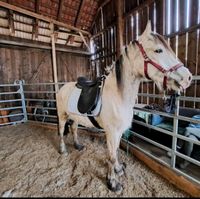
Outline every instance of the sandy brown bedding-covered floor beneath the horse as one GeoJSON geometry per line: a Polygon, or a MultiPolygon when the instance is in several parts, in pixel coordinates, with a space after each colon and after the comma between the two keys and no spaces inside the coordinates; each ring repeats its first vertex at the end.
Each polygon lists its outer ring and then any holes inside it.
{"type": "Polygon", "coordinates": [[[75,150],[68,135],[69,155],[63,156],[56,130],[31,124],[0,127],[0,197],[188,197],[122,150],[124,190],[120,195],[109,191],[105,139],[79,135],[84,150],[75,150]]]}

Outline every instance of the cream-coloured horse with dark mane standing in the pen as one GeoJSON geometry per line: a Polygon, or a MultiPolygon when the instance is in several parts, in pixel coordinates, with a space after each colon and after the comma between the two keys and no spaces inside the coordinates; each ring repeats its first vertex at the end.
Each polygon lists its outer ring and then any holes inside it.
{"type": "MultiPolygon", "coordinates": [[[[104,80],[101,111],[95,117],[106,134],[109,153],[107,185],[112,191],[122,190],[117,175],[123,174],[124,164],[119,163],[117,150],[123,132],[131,126],[139,84],[145,77],[154,81],[160,90],[175,91],[186,89],[192,80],[192,74],[176,58],[164,38],[151,31],[150,21],[138,41],[125,47],[118,61],[113,63],[104,80]]],[[[67,120],[73,121],[70,131],[74,136],[74,146],[79,150],[83,146],[77,139],[78,124],[93,127],[88,117],[71,114],[68,110],[67,102],[75,84],[66,83],[57,94],[61,153],[67,153],[63,140],[67,120]]]]}

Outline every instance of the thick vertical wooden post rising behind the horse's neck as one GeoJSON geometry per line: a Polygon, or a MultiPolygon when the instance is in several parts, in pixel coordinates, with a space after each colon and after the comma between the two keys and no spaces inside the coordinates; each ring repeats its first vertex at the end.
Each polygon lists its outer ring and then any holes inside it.
{"type": "Polygon", "coordinates": [[[122,47],[124,45],[124,20],[123,20],[123,1],[117,0],[117,57],[121,54],[122,47]]]}

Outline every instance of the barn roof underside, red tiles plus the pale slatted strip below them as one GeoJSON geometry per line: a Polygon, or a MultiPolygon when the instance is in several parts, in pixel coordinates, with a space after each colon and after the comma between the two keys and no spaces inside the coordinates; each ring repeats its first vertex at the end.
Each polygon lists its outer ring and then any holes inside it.
{"type": "MultiPolygon", "coordinates": [[[[0,0],[83,31],[90,31],[102,0],[0,0]]],[[[0,6],[0,34],[50,42],[50,23],[0,6]]],[[[76,31],[57,28],[58,44],[84,47],[76,31]]]]}

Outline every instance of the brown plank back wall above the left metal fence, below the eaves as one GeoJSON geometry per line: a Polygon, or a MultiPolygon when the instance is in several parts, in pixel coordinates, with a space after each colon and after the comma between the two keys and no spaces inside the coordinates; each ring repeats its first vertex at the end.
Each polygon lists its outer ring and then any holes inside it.
{"type": "MultiPolygon", "coordinates": [[[[89,75],[89,57],[57,52],[58,81],[75,81],[89,75]]],[[[23,79],[26,83],[53,82],[50,50],[0,47],[0,84],[23,79]]]]}

